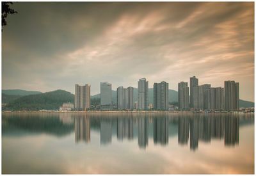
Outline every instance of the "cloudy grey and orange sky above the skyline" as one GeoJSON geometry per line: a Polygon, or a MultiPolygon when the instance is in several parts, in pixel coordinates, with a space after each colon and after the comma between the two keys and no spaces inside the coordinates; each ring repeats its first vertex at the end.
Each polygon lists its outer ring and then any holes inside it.
{"type": "Polygon", "coordinates": [[[239,82],[254,102],[254,3],[13,3],[2,31],[2,88],[74,93],[100,82],[149,88],[196,76],[239,82]]]}

